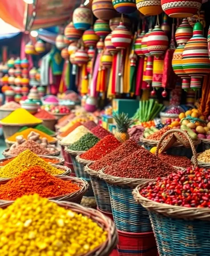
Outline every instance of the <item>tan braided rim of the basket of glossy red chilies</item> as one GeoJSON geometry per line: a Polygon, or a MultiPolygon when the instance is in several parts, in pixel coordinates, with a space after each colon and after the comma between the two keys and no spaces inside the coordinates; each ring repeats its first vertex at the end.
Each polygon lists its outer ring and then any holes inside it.
{"type": "Polygon", "coordinates": [[[138,204],[141,204],[146,210],[154,211],[158,214],[162,214],[170,218],[179,218],[179,219],[198,219],[203,221],[210,221],[210,209],[209,208],[196,208],[196,207],[184,207],[184,206],[173,206],[165,203],[158,203],[143,197],[139,190],[147,186],[150,181],[145,182],[144,184],[137,185],[133,189],[133,197],[138,204]]]}

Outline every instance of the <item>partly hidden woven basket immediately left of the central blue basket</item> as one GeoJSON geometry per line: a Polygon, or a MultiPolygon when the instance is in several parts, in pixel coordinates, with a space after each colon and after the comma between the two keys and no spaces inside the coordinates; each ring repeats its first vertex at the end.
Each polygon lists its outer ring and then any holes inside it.
{"type": "Polygon", "coordinates": [[[99,210],[112,214],[112,207],[109,197],[109,189],[104,180],[99,177],[99,172],[89,168],[91,164],[85,165],[84,171],[90,176],[94,196],[99,210]]]}

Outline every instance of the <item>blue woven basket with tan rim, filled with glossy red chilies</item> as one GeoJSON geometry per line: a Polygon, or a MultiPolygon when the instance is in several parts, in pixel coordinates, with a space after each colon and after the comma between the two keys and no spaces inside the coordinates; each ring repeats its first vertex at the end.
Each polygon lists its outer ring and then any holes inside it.
{"type": "Polygon", "coordinates": [[[142,197],[138,185],[136,201],[149,212],[160,256],[209,256],[210,209],[171,206],[142,197]]]}

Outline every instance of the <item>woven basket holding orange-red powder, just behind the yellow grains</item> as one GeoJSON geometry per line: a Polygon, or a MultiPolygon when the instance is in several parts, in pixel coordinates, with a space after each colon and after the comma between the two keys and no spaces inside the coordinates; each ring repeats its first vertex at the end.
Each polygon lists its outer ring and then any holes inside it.
{"type": "MultiPolygon", "coordinates": [[[[69,176],[57,176],[57,178],[61,180],[71,180],[73,184],[77,184],[78,187],[80,187],[79,190],[69,193],[66,195],[61,195],[57,197],[51,197],[50,199],[56,200],[56,201],[69,201],[69,202],[74,202],[77,204],[81,203],[82,197],[85,195],[85,193],[89,189],[88,182],[86,180],[80,179],[80,178],[75,178],[75,177],[69,177],[69,176]]],[[[0,185],[6,184],[8,180],[1,180],[0,185]]],[[[5,202],[6,200],[0,200],[1,202],[5,202]]]]}

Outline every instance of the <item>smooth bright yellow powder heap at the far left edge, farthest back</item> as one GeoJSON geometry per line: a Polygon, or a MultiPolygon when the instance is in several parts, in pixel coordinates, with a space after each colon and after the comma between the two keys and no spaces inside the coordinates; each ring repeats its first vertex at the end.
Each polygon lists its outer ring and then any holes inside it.
{"type": "Polygon", "coordinates": [[[42,120],[35,118],[25,109],[16,109],[6,118],[1,120],[4,124],[39,124],[42,120]]]}

